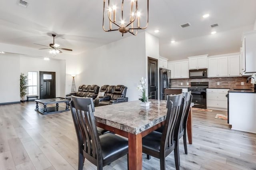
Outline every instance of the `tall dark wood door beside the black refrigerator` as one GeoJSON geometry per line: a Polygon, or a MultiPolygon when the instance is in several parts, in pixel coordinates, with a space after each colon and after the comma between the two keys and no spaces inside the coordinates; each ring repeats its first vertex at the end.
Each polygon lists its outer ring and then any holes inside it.
{"type": "Polygon", "coordinates": [[[151,95],[151,99],[158,99],[157,96],[157,71],[158,63],[156,59],[148,57],[148,95],[151,95]]]}

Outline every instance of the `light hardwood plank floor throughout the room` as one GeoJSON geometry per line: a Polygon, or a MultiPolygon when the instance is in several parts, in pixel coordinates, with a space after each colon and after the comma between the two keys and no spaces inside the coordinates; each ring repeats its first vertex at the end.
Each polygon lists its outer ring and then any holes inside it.
{"type": "MultiPolygon", "coordinates": [[[[0,170],[77,169],[77,139],[70,111],[41,115],[34,111],[35,106],[32,101],[0,105],[0,170]]],[[[193,110],[193,144],[188,144],[186,155],[180,140],[180,168],[256,170],[256,134],[230,130],[227,121],[214,119],[217,113],[226,114],[193,110]]],[[[160,169],[159,160],[147,160],[146,155],[142,166],[144,170],[160,169]]],[[[166,169],[174,167],[171,153],[166,169]]],[[[85,161],[84,170],[94,169],[96,166],[85,161]]],[[[126,156],[104,169],[127,169],[126,156]]]]}

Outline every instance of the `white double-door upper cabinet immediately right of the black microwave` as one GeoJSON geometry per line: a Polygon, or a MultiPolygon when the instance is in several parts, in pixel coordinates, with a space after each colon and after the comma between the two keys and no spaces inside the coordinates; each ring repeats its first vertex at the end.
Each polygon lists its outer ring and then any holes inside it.
{"type": "Polygon", "coordinates": [[[208,77],[228,76],[228,57],[212,57],[208,59],[208,77]]]}

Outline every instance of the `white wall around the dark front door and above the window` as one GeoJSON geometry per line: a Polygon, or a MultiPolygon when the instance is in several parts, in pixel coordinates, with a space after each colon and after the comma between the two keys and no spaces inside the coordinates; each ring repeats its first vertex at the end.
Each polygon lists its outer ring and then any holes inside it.
{"type": "Polygon", "coordinates": [[[39,71],[51,71],[55,72],[56,81],[56,97],[65,97],[65,86],[62,87],[65,82],[65,62],[61,60],[44,60],[43,58],[20,56],[20,72],[25,75],[28,71],[38,72],[38,95],[40,95],[39,85],[39,71]]]}

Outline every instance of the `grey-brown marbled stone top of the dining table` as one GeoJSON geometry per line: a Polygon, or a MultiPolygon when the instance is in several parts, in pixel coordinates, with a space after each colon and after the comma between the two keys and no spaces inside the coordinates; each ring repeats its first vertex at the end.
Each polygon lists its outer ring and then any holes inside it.
{"type": "Polygon", "coordinates": [[[139,134],[166,119],[167,101],[149,101],[149,107],[140,106],[140,101],[95,107],[94,117],[99,123],[139,134]]]}

